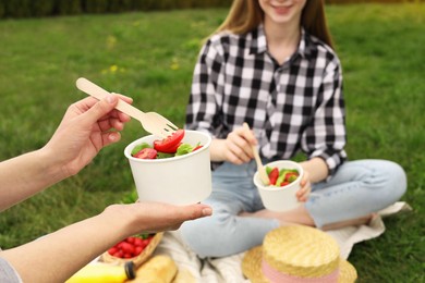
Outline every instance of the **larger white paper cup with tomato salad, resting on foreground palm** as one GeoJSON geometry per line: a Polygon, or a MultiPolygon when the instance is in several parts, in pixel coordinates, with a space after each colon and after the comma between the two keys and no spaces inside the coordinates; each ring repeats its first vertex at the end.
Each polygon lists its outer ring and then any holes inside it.
{"type": "Polygon", "coordinates": [[[207,198],[210,143],[206,133],[178,130],[165,139],[149,135],[126,146],[138,199],[183,206],[207,198]]]}

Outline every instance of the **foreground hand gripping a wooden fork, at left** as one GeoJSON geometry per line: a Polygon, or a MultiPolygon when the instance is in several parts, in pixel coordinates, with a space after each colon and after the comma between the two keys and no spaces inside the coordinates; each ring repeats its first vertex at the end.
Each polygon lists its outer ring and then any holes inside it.
{"type": "Polygon", "coordinates": [[[120,131],[130,116],[114,109],[118,97],[131,103],[124,96],[110,95],[102,100],[92,97],[71,104],[49,143],[42,148],[63,177],[80,172],[101,148],[120,140],[120,131]]]}

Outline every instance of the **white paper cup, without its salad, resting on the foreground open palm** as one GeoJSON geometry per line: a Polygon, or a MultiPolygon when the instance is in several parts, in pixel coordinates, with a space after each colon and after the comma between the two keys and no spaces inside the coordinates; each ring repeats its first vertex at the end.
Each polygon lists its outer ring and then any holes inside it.
{"type": "Polygon", "coordinates": [[[211,170],[208,134],[185,130],[182,143],[203,147],[184,156],[165,159],[138,159],[132,149],[142,143],[149,145],[158,137],[142,137],[124,149],[129,159],[138,199],[185,206],[206,199],[211,193],[211,170]]]}

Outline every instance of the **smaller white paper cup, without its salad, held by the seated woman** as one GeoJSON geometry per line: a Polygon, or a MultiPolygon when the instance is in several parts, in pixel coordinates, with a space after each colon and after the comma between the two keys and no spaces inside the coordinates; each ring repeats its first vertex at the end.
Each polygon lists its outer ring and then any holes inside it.
{"type": "MultiPolygon", "coordinates": [[[[258,188],[259,196],[262,197],[263,205],[265,208],[272,211],[287,211],[296,208],[300,206],[300,201],[298,200],[295,193],[300,189],[300,181],[303,177],[304,171],[303,168],[291,160],[279,160],[274,161],[267,167],[275,168],[277,167],[279,170],[281,169],[296,169],[300,172],[300,176],[292,183],[283,186],[265,186],[259,179],[258,171],[254,174],[254,184],[258,188]]],[[[266,167],[265,165],[265,167],[266,167]]]]}

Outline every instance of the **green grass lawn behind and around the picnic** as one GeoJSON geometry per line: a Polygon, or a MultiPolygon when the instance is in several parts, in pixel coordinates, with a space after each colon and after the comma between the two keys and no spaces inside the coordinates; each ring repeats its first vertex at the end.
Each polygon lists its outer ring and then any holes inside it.
{"type": "MultiPolygon", "coordinates": [[[[327,8],[344,70],[351,159],[382,158],[406,171],[413,211],[350,256],[359,282],[424,282],[425,4],[327,8]]],[[[183,125],[202,39],[227,10],[0,21],[0,160],[41,147],[85,76],[183,125]]],[[[145,135],[132,121],[122,142],[78,175],[0,214],[0,246],[21,245],[100,212],[134,190],[124,147],[145,135]]],[[[24,172],[23,172],[24,173],[24,172]]],[[[13,188],[11,188],[13,189],[13,188]]]]}

